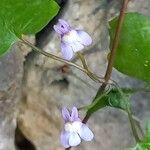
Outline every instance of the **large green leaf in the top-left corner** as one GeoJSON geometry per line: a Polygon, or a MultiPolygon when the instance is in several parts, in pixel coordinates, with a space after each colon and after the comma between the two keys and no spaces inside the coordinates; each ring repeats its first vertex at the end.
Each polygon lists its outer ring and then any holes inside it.
{"type": "Polygon", "coordinates": [[[58,10],[54,0],[1,0],[0,55],[23,34],[39,32],[58,10]]]}

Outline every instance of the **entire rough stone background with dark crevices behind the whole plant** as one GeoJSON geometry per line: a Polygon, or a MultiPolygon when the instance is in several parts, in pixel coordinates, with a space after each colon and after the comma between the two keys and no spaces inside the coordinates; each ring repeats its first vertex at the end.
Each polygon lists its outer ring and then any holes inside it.
{"type": "MultiPolygon", "coordinates": [[[[57,2],[61,6],[59,14],[37,35],[26,37],[27,40],[61,56],[60,40],[53,25],[63,18],[91,35],[93,44],[84,55],[90,68],[96,74],[104,75],[109,52],[108,20],[118,14],[122,0],[57,2]]],[[[131,0],[128,11],[150,16],[150,0],[131,0]]],[[[77,58],[73,62],[80,64],[77,58]]],[[[69,71],[62,71],[64,66],[21,43],[14,45],[0,59],[0,150],[63,150],[59,141],[63,127],[61,107],[88,104],[99,87],[73,67],[67,66],[69,71]]],[[[144,85],[116,70],[113,70],[112,78],[122,87],[144,85]]],[[[133,113],[141,121],[150,119],[149,98],[150,94],[144,92],[132,96],[133,113]]],[[[81,113],[83,116],[84,112],[81,113]]],[[[128,118],[122,111],[100,110],[91,117],[88,125],[95,133],[94,140],[73,149],[121,150],[135,143],[128,118]]]]}

